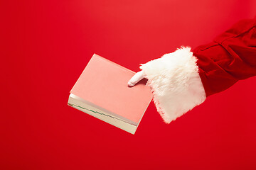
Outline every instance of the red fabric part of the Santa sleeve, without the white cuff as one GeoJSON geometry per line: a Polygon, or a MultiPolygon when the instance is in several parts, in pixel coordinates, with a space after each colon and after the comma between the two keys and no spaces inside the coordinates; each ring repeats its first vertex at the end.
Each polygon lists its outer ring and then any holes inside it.
{"type": "Polygon", "coordinates": [[[206,96],[256,75],[256,17],[242,20],[208,45],[193,50],[206,96]]]}

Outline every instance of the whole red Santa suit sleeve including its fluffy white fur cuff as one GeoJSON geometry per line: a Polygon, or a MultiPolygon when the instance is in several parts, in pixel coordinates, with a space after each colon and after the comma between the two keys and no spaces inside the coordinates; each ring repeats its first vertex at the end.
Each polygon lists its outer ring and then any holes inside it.
{"type": "Polygon", "coordinates": [[[165,123],[180,117],[206,97],[256,75],[256,17],[242,20],[207,45],[181,47],[141,64],[165,123]]]}

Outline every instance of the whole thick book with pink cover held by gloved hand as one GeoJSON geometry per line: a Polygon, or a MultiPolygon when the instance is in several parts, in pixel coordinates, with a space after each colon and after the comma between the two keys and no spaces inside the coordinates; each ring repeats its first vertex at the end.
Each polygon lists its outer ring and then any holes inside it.
{"type": "Polygon", "coordinates": [[[94,54],[71,89],[68,105],[134,134],[152,99],[146,80],[128,86],[134,74],[94,54]]]}

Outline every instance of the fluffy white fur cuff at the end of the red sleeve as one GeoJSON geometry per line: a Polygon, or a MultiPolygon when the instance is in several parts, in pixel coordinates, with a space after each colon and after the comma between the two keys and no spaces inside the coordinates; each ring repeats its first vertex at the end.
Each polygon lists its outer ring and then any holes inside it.
{"type": "Polygon", "coordinates": [[[157,111],[165,123],[180,117],[206,100],[197,58],[190,47],[181,47],[161,58],[141,64],[154,94],[157,111]]]}

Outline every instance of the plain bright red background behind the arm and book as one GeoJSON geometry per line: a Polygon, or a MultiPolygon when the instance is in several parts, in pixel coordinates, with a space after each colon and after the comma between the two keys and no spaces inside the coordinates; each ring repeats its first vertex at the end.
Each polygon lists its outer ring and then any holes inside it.
{"type": "Polygon", "coordinates": [[[256,169],[255,77],[135,135],[67,105],[93,53],[139,71],[210,42],[255,0],[1,1],[1,169],[256,169]]]}

